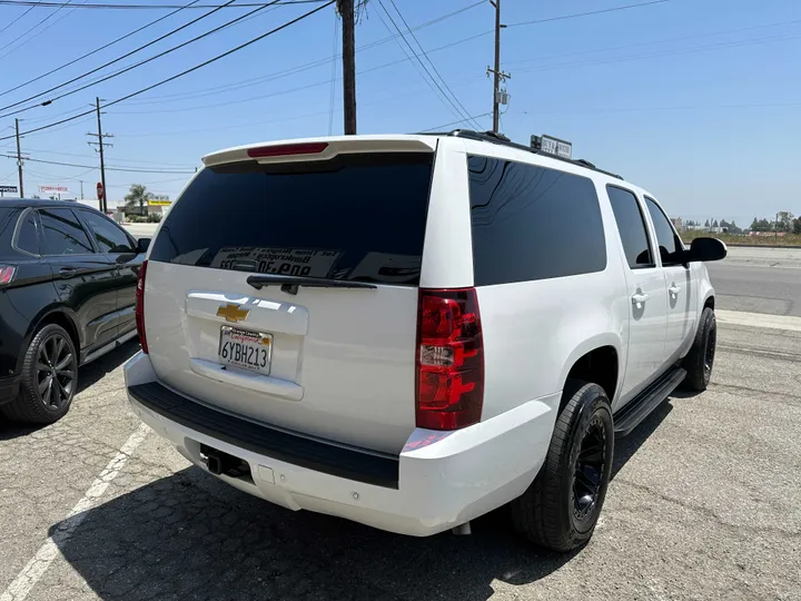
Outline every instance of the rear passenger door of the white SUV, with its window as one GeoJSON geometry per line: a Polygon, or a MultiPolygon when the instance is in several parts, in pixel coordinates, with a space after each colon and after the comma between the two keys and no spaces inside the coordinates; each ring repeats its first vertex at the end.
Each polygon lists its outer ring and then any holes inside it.
{"type": "Polygon", "coordinates": [[[651,383],[664,363],[668,290],[653,253],[643,207],[630,189],[607,186],[627,265],[629,352],[617,410],[651,383]]]}

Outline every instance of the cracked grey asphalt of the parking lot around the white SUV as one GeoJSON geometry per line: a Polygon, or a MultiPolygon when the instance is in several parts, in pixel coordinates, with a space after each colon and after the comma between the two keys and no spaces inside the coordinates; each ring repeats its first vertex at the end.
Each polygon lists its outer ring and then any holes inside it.
{"type": "Polygon", "coordinates": [[[595,536],[568,555],[527,548],[502,511],[431,539],[294,513],[154,433],[65,524],[139,426],[121,373],[136,349],[82,370],[58,424],[0,423],[0,591],[56,534],[29,600],[801,600],[801,332],[721,326],[712,386],[616,442],[595,536]]]}

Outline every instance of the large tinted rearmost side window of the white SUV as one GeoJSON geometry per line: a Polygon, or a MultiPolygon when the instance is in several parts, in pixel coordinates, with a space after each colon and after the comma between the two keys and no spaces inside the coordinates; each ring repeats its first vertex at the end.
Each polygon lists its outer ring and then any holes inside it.
{"type": "Polygon", "coordinates": [[[476,286],[606,267],[592,180],[486,157],[469,157],[468,166],[476,286]]]}

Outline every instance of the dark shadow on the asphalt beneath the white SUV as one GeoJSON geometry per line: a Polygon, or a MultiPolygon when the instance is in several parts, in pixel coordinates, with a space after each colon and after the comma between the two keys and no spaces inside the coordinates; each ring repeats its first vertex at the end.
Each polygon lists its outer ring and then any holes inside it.
{"type": "MultiPolygon", "coordinates": [[[[617,441],[614,474],[672,408],[617,441]]],[[[55,540],[101,599],[130,601],[485,601],[494,581],[528,584],[581,553],[530,548],[503,510],[474,521],[472,536],[414,539],[284,510],[197,467],[90,510],[71,539],[55,540]]]]}

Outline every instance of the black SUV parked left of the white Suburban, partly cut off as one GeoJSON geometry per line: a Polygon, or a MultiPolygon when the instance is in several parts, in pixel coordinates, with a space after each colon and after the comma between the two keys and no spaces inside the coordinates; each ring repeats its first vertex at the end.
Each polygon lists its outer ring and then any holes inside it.
{"type": "Polygon", "coordinates": [[[136,336],[149,243],[76,203],[0,200],[0,413],[57,421],[78,366],[136,336]]]}

